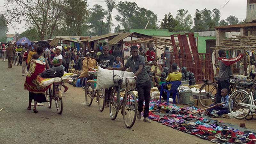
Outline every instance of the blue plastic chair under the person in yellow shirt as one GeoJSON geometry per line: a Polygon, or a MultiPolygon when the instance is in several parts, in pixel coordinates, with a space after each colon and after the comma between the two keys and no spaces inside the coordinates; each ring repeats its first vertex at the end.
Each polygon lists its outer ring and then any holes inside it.
{"type": "Polygon", "coordinates": [[[161,102],[162,92],[166,92],[167,93],[167,95],[166,95],[167,96],[167,98],[166,98],[167,103],[169,103],[170,93],[172,93],[172,100],[173,100],[172,103],[176,103],[176,100],[175,100],[176,95],[177,95],[178,103],[179,103],[178,87],[180,86],[180,84],[181,84],[181,81],[172,81],[172,82],[168,82],[168,83],[163,83],[161,85],[161,89],[160,89],[160,99],[159,99],[159,101],[161,102]],[[163,88],[163,86],[167,85],[167,84],[172,84],[170,91],[163,88]]]}

